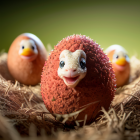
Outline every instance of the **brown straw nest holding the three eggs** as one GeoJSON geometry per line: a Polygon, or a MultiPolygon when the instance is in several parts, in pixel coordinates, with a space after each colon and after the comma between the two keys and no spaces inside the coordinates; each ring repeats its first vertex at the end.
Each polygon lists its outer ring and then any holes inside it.
{"type": "MultiPolygon", "coordinates": [[[[139,140],[140,61],[131,58],[128,85],[117,89],[110,110],[91,125],[68,128],[65,118],[55,118],[46,109],[40,85],[14,81],[7,69],[7,54],[0,56],[0,140],[139,140]]],[[[84,124],[86,122],[86,116],[84,124]]]]}

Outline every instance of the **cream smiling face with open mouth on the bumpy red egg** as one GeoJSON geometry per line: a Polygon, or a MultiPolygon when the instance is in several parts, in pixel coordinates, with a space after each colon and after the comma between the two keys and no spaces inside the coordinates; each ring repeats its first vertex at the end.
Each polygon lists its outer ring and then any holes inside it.
{"type": "Polygon", "coordinates": [[[64,50],[61,52],[59,60],[58,76],[67,86],[76,87],[87,73],[85,52],[83,50],[75,52],[64,50]]]}

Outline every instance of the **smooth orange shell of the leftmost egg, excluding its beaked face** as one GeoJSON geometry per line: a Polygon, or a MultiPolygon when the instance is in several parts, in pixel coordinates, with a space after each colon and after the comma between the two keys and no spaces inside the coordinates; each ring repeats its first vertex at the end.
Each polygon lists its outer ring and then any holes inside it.
{"type": "Polygon", "coordinates": [[[19,35],[11,44],[8,51],[7,65],[14,79],[25,85],[36,85],[40,82],[46,59],[47,52],[41,40],[31,33],[24,33],[19,35]],[[33,61],[22,59],[19,56],[20,42],[29,39],[35,42],[38,50],[38,55],[33,61]]]}

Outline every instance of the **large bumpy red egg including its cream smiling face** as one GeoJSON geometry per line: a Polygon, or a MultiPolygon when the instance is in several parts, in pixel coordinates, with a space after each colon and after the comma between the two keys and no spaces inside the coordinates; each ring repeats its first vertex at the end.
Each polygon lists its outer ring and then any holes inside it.
{"type": "Polygon", "coordinates": [[[114,98],[115,74],[100,46],[84,35],[61,40],[43,67],[41,94],[52,114],[67,115],[87,107],[66,123],[93,122],[101,107],[106,110],[114,98]]]}

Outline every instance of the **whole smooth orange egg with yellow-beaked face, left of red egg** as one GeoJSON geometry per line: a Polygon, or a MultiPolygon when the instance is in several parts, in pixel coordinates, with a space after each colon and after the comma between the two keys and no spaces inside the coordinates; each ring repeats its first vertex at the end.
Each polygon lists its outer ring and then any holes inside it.
{"type": "Polygon", "coordinates": [[[31,33],[19,35],[8,51],[7,65],[15,80],[25,85],[40,82],[41,71],[47,59],[41,40],[31,33]]]}

